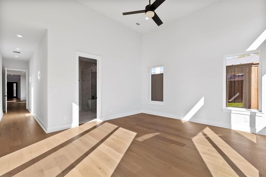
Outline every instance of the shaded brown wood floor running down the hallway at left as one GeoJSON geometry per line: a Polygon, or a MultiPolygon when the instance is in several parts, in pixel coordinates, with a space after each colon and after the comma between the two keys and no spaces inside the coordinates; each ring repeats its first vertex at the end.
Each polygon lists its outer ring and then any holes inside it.
{"type": "Polygon", "coordinates": [[[0,157],[57,134],[46,134],[31,113],[26,101],[7,99],[7,113],[0,122],[0,157]]]}

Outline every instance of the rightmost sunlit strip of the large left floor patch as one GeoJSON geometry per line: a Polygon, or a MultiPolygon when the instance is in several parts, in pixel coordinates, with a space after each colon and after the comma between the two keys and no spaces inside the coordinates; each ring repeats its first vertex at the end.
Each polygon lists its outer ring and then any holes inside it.
{"type": "Polygon", "coordinates": [[[135,136],[135,132],[118,128],[66,176],[111,176],[135,136]]]}

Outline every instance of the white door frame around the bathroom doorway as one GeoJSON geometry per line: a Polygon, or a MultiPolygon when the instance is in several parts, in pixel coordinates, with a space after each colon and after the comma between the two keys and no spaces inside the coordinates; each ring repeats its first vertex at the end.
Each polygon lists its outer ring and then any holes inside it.
{"type": "Polygon", "coordinates": [[[79,57],[97,60],[97,121],[102,121],[102,57],[76,51],[75,103],[72,103],[72,127],[79,126],[79,57]]]}

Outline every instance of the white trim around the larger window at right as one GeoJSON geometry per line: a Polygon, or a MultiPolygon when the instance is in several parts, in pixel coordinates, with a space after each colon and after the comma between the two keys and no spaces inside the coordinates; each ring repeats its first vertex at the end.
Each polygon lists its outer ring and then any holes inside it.
{"type": "Polygon", "coordinates": [[[230,112],[236,114],[246,114],[246,115],[255,115],[255,116],[262,116],[262,56],[263,53],[260,50],[248,51],[243,52],[240,54],[233,54],[233,55],[225,55],[223,57],[223,112],[230,112]],[[257,53],[259,52],[259,109],[246,109],[246,108],[234,108],[234,107],[226,107],[226,57],[231,56],[238,56],[238,55],[245,55],[250,53],[257,53]]]}

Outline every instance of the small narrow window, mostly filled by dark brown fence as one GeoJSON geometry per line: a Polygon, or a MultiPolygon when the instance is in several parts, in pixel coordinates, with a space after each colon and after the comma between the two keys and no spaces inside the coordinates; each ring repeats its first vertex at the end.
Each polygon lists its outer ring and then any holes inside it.
{"type": "Polygon", "coordinates": [[[164,101],[164,67],[150,68],[150,101],[164,101]]]}

